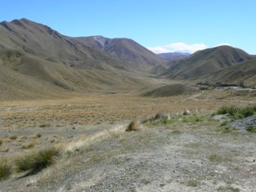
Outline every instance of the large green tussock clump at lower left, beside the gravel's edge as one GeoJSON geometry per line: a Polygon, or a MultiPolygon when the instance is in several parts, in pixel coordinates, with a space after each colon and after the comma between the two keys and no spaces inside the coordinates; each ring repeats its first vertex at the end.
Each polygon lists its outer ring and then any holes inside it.
{"type": "Polygon", "coordinates": [[[58,154],[60,154],[60,150],[55,147],[31,151],[29,154],[16,159],[16,167],[19,172],[28,172],[27,175],[33,175],[52,165],[58,154]]]}

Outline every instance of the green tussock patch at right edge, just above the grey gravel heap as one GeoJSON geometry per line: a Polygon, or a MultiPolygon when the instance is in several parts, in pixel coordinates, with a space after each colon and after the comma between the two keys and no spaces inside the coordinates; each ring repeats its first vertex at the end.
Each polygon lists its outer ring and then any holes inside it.
{"type": "Polygon", "coordinates": [[[247,118],[256,114],[256,105],[247,107],[222,106],[217,114],[229,114],[233,119],[247,118]]]}

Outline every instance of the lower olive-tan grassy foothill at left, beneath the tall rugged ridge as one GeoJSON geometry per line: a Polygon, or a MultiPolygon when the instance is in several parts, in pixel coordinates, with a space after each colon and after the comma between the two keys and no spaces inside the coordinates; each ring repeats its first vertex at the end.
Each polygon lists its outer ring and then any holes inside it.
{"type": "Polygon", "coordinates": [[[0,74],[0,100],[57,98],[66,97],[70,92],[97,90],[122,91],[143,87],[145,83],[101,69],[74,69],[10,49],[0,50],[0,74]]]}

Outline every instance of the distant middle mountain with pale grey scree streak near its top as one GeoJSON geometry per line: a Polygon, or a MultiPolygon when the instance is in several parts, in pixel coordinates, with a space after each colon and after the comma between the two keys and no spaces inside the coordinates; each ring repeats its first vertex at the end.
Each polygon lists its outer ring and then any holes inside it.
{"type": "Polygon", "coordinates": [[[139,67],[150,71],[152,67],[159,64],[164,65],[162,60],[152,51],[142,47],[137,42],[128,38],[104,38],[102,36],[74,38],[88,47],[93,47],[108,54],[139,67]]]}

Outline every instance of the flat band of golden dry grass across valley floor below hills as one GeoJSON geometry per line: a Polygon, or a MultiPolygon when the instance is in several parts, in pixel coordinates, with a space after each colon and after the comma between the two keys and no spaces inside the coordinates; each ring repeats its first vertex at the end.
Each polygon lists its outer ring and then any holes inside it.
{"type": "MultiPolygon", "coordinates": [[[[188,110],[214,110],[222,105],[234,105],[238,100],[220,100],[228,93],[202,94],[200,100],[193,96],[148,98],[119,93],[113,95],[88,94],[72,99],[31,100],[0,102],[2,129],[25,129],[28,127],[63,127],[115,123],[127,119],[138,120],[159,112],[173,114],[188,110]],[[211,99],[214,96],[217,99],[211,99]],[[209,99],[211,101],[209,102],[209,99]]],[[[243,102],[238,105],[244,105],[243,102]]]]}

